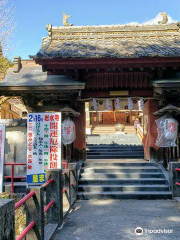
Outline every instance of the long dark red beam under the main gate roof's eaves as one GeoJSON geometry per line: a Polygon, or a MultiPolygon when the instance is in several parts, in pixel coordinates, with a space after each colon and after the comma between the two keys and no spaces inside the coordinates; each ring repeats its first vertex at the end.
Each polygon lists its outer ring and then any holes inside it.
{"type": "Polygon", "coordinates": [[[96,69],[96,68],[143,68],[143,67],[179,67],[180,57],[146,58],[53,58],[36,59],[36,63],[47,69],[96,69]]]}

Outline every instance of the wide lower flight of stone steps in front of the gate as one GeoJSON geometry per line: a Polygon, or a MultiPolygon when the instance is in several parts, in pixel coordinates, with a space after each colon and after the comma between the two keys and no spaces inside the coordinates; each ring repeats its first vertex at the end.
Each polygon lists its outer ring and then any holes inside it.
{"type": "Polygon", "coordinates": [[[144,160],[83,163],[79,199],[172,199],[162,170],[144,160]]]}

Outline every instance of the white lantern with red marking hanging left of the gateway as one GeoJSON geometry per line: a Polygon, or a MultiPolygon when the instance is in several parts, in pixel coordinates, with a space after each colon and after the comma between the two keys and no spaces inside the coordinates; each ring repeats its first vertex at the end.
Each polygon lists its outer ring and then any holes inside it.
{"type": "Polygon", "coordinates": [[[67,117],[62,122],[62,142],[66,146],[76,139],[76,129],[73,121],[67,117]]]}

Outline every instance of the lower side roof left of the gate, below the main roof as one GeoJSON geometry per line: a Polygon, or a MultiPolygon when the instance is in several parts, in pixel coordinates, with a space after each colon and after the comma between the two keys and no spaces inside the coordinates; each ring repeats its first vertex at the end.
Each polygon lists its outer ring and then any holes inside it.
{"type": "Polygon", "coordinates": [[[47,75],[47,72],[42,72],[42,67],[28,66],[20,70],[19,73],[14,73],[13,69],[9,69],[1,87],[37,87],[37,86],[74,86],[82,89],[85,83],[75,81],[64,75],[47,75]]]}

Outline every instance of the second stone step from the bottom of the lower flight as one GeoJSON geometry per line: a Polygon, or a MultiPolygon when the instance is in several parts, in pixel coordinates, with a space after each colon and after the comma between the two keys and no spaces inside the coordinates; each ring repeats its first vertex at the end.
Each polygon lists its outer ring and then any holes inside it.
{"type": "Polygon", "coordinates": [[[111,191],[169,191],[169,186],[161,185],[79,185],[79,192],[111,192],[111,191]]]}

